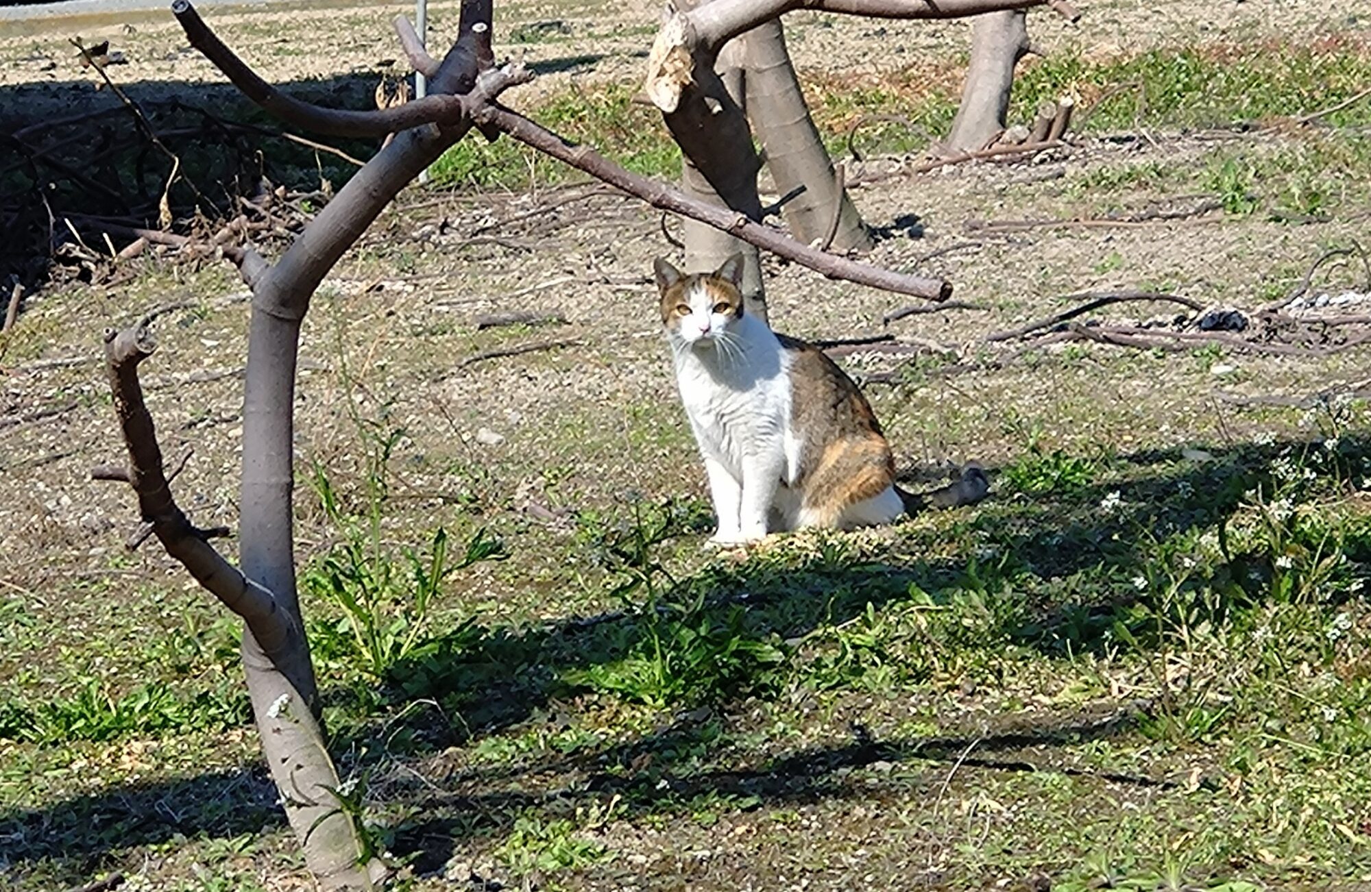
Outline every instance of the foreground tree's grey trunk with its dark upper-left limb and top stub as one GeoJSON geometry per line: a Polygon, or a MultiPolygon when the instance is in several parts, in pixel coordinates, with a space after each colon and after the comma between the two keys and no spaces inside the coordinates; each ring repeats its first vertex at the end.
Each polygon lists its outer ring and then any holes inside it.
{"type": "MultiPolygon", "coordinates": [[[[178,0],[173,11],[192,45],[269,111],[303,116],[311,127],[335,132],[341,125],[391,123],[387,112],[333,112],[281,97],[218,41],[189,3],[178,0]]],[[[271,593],[276,608],[295,629],[304,625],[295,586],[291,500],[300,325],[310,297],[339,258],[406,184],[470,129],[463,101],[452,95],[477,88],[480,63],[489,58],[489,26],[491,0],[463,0],[459,37],[435,71],[436,96],[430,99],[437,103],[429,103],[433,108],[426,112],[446,126],[413,126],[406,119],[411,129],[367,162],[274,266],[245,275],[252,280],[252,315],[243,410],[240,559],[243,575],[271,593]]],[[[354,815],[340,808],[333,792],[339,777],[319,721],[308,643],[303,634],[263,640],[258,632],[248,623],[243,633],[247,686],[267,767],[306,865],[325,889],[370,889],[387,869],[365,856],[354,815]]]]}

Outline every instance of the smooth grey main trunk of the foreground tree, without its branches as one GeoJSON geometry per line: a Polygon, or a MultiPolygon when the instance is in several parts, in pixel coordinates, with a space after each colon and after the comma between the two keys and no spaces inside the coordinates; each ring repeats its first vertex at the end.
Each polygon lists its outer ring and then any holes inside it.
{"type": "MultiPolygon", "coordinates": [[[[435,85],[437,86],[437,85],[435,85]]],[[[428,129],[399,134],[359,170],[254,289],[243,399],[243,573],[270,589],[303,629],[295,589],[293,407],[300,323],[310,297],[377,214],[452,144],[428,129]]],[[[308,644],[267,654],[243,634],[243,666],[271,778],[300,839],[304,860],[326,889],[365,889],[384,873],[362,855],[354,817],[330,789],[329,759],[308,644]]]]}

